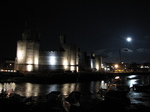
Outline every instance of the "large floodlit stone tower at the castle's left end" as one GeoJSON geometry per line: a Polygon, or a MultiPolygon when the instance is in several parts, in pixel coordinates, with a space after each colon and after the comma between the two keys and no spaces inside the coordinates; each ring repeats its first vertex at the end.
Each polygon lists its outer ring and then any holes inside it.
{"type": "MultiPolygon", "coordinates": [[[[36,32],[37,33],[37,32],[36,32]]],[[[18,71],[37,71],[39,63],[39,35],[26,29],[22,40],[17,42],[15,69],[18,71]]]]}

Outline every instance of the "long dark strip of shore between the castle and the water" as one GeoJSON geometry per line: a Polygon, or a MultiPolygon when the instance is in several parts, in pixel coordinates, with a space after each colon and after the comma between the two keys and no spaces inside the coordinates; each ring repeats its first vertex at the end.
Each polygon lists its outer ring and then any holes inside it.
{"type": "Polygon", "coordinates": [[[75,83],[97,81],[105,78],[113,78],[117,75],[150,75],[145,73],[0,73],[0,82],[32,82],[32,83],[75,83]]]}

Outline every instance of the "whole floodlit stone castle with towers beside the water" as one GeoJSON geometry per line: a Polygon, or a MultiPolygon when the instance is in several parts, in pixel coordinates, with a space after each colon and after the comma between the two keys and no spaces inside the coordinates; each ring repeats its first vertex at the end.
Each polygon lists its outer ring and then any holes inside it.
{"type": "Polygon", "coordinates": [[[94,53],[87,56],[77,45],[67,44],[64,35],[60,36],[58,51],[40,51],[39,34],[29,29],[17,41],[15,69],[18,71],[100,71],[101,64],[101,57],[94,53]]]}

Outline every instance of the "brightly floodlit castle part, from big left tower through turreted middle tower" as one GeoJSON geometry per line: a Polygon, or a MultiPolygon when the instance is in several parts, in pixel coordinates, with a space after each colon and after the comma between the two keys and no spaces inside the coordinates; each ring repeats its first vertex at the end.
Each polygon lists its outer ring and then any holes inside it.
{"type": "Polygon", "coordinates": [[[31,39],[28,33],[17,42],[17,70],[78,70],[78,47],[66,44],[64,36],[60,36],[60,50],[41,51],[40,41],[31,39]]]}

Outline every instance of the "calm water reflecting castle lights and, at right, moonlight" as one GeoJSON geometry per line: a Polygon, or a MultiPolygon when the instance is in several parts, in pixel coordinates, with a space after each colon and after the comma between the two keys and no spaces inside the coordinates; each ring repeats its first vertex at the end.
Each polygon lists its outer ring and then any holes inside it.
{"type": "MultiPolygon", "coordinates": [[[[134,84],[150,84],[149,75],[129,75],[119,76],[124,85],[132,88],[134,84]]],[[[103,79],[100,81],[91,81],[86,83],[64,83],[64,84],[34,84],[34,83],[0,83],[0,91],[15,92],[21,96],[40,96],[50,93],[51,91],[60,91],[63,95],[68,95],[74,90],[80,91],[84,96],[93,97],[100,87],[106,87],[112,83],[112,79],[103,79]],[[75,88],[76,87],[76,88],[75,88]]],[[[150,93],[135,92],[132,89],[129,92],[131,103],[150,106],[150,93]]]]}

